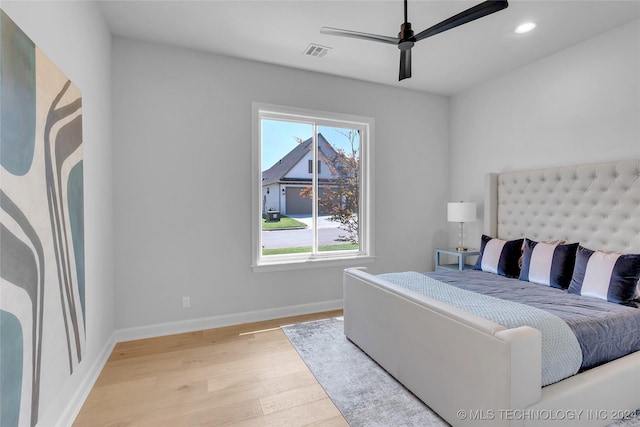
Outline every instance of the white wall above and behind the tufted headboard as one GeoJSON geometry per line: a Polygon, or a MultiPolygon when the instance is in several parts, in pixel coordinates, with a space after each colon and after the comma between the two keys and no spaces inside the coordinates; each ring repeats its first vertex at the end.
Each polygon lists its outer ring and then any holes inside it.
{"type": "MultiPolygon", "coordinates": [[[[640,21],[462,92],[450,108],[453,200],[481,205],[487,172],[640,158],[640,21]]],[[[482,220],[468,230],[479,242],[482,220]]]]}

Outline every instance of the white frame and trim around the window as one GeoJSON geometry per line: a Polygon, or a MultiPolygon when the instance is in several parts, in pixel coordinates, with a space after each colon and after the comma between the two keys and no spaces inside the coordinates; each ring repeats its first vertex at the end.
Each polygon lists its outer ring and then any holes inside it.
{"type": "MultiPolygon", "coordinates": [[[[358,266],[372,262],[374,255],[374,119],[351,114],[316,111],[297,107],[252,103],[252,149],[251,149],[251,243],[254,272],[284,271],[301,268],[358,266]],[[362,129],[360,138],[360,201],[358,218],[359,250],[328,251],[316,254],[262,255],[262,119],[280,119],[287,121],[312,121],[317,125],[362,129]]],[[[314,158],[315,160],[315,158],[314,158]]],[[[314,206],[314,218],[315,209],[314,206]]],[[[317,229],[317,227],[316,227],[317,229]]],[[[315,239],[315,237],[314,237],[315,239]]]]}

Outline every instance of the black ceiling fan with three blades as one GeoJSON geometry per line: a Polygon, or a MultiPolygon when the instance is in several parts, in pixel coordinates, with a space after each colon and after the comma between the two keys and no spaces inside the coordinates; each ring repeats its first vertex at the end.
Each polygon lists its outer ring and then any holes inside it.
{"type": "Polygon", "coordinates": [[[407,0],[404,0],[404,23],[400,26],[398,37],[341,30],[340,28],[332,27],[322,27],[320,32],[334,36],[353,37],[398,46],[398,49],[400,49],[400,77],[398,80],[401,81],[411,77],[411,48],[416,42],[506,9],[507,6],[509,6],[509,4],[506,1],[485,1],[414,35],[411,29],[411,23],[408,22],[407,19],[407,0]]]}

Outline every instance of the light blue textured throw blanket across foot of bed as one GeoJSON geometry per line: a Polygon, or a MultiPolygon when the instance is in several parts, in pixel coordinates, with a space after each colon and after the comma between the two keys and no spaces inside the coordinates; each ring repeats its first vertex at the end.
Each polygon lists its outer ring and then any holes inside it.
{"type": "Polygon", "coordinates": [[[580,344],[571,328],[558,316],[525,304],[459,289],[421,273],[388,273],[378,277],[506,328],[531,326],[538,329],[542,334],[543,386],[570,377],[580,369],[580,344]]]}

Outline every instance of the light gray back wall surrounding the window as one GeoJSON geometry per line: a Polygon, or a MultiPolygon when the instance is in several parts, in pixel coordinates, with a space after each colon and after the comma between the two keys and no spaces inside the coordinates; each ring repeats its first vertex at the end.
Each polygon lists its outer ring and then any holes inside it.
{"type": "Polygon", "coordinates": [[[370,269],[433,266],[447,98],[118,38],[113,64],[118,328],[339,304],[342,268],[250,268],[252,101],[374,117],[370,269]]]}

